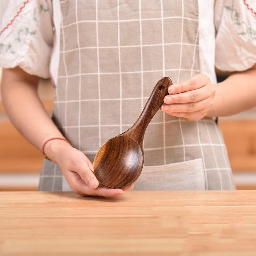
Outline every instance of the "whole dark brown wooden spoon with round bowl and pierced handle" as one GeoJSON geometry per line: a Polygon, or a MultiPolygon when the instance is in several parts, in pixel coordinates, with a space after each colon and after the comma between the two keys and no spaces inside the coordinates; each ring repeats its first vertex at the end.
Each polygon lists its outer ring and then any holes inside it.
{"type": "Polygon", "coordinates": [[[100,147],[93,169],[102,185],[120,188],[138,179],[144,163],[143,138],[146,128],[163,104],[170,85],[172,81],[169,77],[158,81],[134,125],[100,147]]]}

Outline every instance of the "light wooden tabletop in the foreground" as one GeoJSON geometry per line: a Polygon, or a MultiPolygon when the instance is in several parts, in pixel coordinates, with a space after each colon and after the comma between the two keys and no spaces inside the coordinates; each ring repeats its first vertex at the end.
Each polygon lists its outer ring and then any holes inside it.
{"type": "Polygon", "coordinates": [[[256,191],[1,192],[0,255],[256,255],[256,191]]]}

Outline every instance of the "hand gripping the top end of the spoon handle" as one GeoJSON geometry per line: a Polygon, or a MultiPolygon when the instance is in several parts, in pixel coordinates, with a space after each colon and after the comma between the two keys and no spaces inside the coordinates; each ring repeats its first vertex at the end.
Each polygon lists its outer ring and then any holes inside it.
{"type": "Polygon", "coordinates": [[[168,93],[161,110],[172,116],[195,121],[207,114],[213,105],[216,90],[208,76],[197,74],[188,80],[172,84],[168,93]]]}

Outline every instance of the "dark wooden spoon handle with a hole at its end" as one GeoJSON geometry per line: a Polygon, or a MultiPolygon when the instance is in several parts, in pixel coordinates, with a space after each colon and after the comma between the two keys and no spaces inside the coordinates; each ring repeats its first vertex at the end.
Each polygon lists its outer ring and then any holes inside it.
{"type": "Polygon", "coordinates": [[[167,90],[170,85],[172,81],[169,77],[164,77],[157,82],[139,118],[130,129],[124,132],[126,136],[132,137],[141,146],[146,128],[163,104],[163,98],[168,94],[167,90]]]}

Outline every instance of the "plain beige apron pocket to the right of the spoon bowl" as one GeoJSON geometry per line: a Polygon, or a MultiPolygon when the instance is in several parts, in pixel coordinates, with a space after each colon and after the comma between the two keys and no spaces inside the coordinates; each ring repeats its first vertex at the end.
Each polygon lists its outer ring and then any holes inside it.
{"type": "Polygon", "coordinates": [[[205,190],[202,159],[144,166],[130,190],[205,190]]]}

